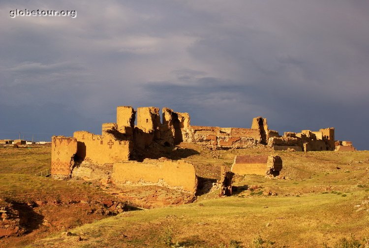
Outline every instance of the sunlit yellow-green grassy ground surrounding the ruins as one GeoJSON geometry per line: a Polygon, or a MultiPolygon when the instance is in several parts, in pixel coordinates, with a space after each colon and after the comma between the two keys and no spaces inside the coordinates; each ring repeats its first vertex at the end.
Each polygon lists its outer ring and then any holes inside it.
{"type": "MultiPolygon", "coordinates": [[[[0,197],[25,201],[38,193],[67,200],[102,193],[78,181],[35,177],[50,164],[47,149],[0,149],[0,197]]],[[[271,153],[191,149],[199,154],[185,160],[195,164],[198,174],[214,178],[218,166],[229,166],[236,154],[271,153]]],[[[190,204],[125,212],[39,236],[31,233],[32,239],[23,238],[13,247],[359,247],[355,240],[362,248],[369,246],[369,152],[275,154],[283,159],[285,179],[237,177],[230,197],[211,192],[190,204]]],[[[0,246],[12,247],[5,240],[0,246]]]]}

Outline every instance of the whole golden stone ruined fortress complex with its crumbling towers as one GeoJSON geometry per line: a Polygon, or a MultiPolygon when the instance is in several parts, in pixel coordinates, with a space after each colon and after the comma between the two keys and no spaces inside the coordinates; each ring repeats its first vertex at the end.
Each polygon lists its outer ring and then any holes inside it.
{"type": "MultiPolygon", "coordinates": [[[[301,133],[286,132],[280,136],[277,131],[268,129],[267,120],[262,117],[254,118],[251,128],[195,126],[190,124],[188,113],[163,108],[161,122],[159,108],[140,107],[135,111],[130,106],[119,106],[117,122],[102,124],[101,135],[76,131],[73,137],[52,137],[51,175],[55,179],[86,177],[113,183],[159,185],[195,194],[197,176],[193,164],[148,157],[138,162],[134,156],[137,151],[147,154],[147,149],[155,149],[157,145],[174,147],[181,142],[200,144],[213,150],[261,145],[274,150],[333,151],[337,145],[333,127],[319,131],[303,130],[301,133]],[[78,166],[75,161],[78,161],[78,166]]],[[[338,144],[338,151],[354,149],[347,142],[338,144]]],[[[260,163],[252,165],[245,162],[244,167],[237,163],[240,159],[246,158],[236,157],[234,173],[249,174],[254,170],[256,174],[274,175],[281,169],[281,160],[279,167],[280,158],[277,157],[273,158],[274,165],[270,168],[266,168],[269,166],[267,156],[248,158],[245,161],[259,159],[260,163]]],[[[223,174],[221,180],[227,181],[230,174],[223,174]]],[[[227,186],[223,189],[229,194],[227,186]]]]}

